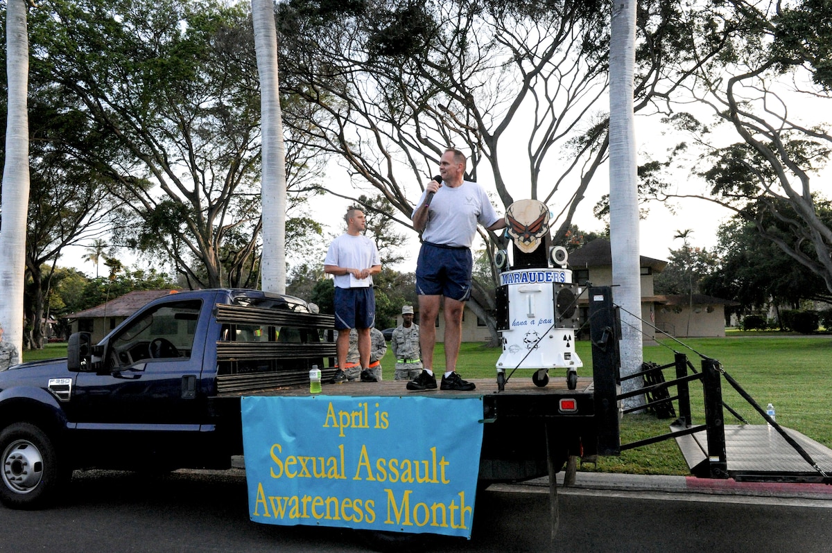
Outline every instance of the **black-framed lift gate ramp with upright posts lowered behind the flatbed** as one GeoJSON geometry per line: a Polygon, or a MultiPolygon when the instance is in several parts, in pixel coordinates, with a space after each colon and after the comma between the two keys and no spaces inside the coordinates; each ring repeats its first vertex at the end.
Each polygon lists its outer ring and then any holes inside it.
{"type": "MultiPolygon", "coordinates": [[[[718,360],[700,353],[701,370],[697,371],[684,353],[676,352],[673,363],[663,366],[643,363],[640,372],[623,376],[619,370],[617,348],[609,347],[609,344],[617,343],[621,335],[618,314],[612,307],[610,296],[607,287],[590,289],[599,454],[617,455],[628,449],[672,438],[676,440],[694,476],[733,478],[735,481],[832,484],[832,449],[800,432],[781,427],[718,360]],[[661,374],[665,369],[675,369],[673,378],[666,379],[661,374]],[[642,386],[620,393],[623,381],[636,378],[641,379],[642,386]],[[705,421],[699,425],[693,424],[691,412],[691,384],[694,383],[701,383],[704,402],[705,421]],[[749,424],[739,412],[727,405],[722,399],[723,383],[734,388],[766,424],[749,424]],[[675,395],[668,392],[670,388],[675,389],[675,395]],[[610,408],[636,396],[644,397],[646,403],[641,402],[620,412],[610,408]],[[677,409],[672,408],[674,402],[677,409]],[[678,412],[679,417],[671,424],[670,432],[636,442],[620,442],[618,422],[621,413],[645,409],[656,411],[660,407],[666,412],[678,412]],[[741,424],[726,425],[726,412],[741,424]]],[[[621,309],[620,306],[617,309],[621,309]]]]}

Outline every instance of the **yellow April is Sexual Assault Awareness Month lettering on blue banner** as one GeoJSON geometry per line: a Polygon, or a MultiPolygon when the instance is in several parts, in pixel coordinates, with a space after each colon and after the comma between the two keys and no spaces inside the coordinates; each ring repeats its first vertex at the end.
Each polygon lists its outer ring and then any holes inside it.
{"type": "Polygon", "coordinates": [[[383,432],[407,440],[408,429],[391,427],[389,412],[378,402],[371,407],[359,401],[349,411],[336,409],[331,401],[319,404],[326,405],[317,422],[325,434],[315,443],[317,451],[298,451],[292,440],[269,445],[270,478],[257,483],[252,520],[343,521],[349,526],[380,522],[400,530],[470,528],[473,498],[453,486],[451,463],[437,446],[415,443],[406,457],[389,457],[384,440],[374,438],[383,432]],[[284,489],[291,491],[275,493],[284,489]],[[350,490],[358,493],[343,495],[350,490]]]}

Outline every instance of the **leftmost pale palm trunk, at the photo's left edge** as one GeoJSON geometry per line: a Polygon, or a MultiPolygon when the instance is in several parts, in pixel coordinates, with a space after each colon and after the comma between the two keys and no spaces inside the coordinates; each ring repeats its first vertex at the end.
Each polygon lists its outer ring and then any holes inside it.
{"type": "Polygon", "coordinates": [[[6,2],[8,115],[2,171],[0,231],[0,323],[7,341],[22,349],[26,218],[29,210],[29,39],[26,0],[6,2]]]}

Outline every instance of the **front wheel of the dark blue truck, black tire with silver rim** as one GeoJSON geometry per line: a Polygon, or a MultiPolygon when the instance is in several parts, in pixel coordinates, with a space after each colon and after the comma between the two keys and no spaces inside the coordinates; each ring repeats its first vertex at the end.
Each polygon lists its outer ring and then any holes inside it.
{"type": "Polygon", "coordinates": [[[71,474],[58,467],[52,439],[28,422],[15,422],[0,432],[0,454],[0,502],[12,509],[46,506],[71,474]]]}

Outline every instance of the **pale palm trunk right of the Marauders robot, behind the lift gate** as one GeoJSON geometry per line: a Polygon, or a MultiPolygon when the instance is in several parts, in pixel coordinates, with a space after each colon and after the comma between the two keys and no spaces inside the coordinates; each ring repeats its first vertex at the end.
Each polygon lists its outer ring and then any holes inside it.
{"type": "MultiPolygon", "coordinates": [[[[610,244],[616,304],[622,307],[622,376],[641,370],[641,268],[639,266],[638,184],[633,121],[633,71],[636,63],[636,0],[612,4],[610,29],[610,244]]],[[[622,391],[641,388],[638,378],[622,391]]],[[[627,407],[644,404],[643,396],[627,407]]]]}

